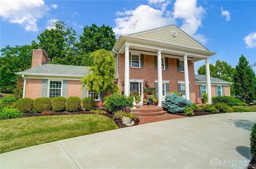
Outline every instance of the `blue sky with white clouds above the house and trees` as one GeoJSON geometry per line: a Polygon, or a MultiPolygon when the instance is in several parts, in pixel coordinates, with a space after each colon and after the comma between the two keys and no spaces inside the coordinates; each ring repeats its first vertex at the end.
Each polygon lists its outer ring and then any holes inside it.
{"type": "MultiPolygon", "coordinates": [[[[175,24],[210,51],[210,63],[232,67],[243,54],[256,62],[254,0],[1,0],[0,48],[29,45],[52,21],[61,20],[82,34],[84,26],[103,24],[119,34],[132,34],[175,24]]],[[[196,62],[195,71],[204,64],[196,62]]],[[[256,67],[254,67],[256,72],[256,67]]]]}

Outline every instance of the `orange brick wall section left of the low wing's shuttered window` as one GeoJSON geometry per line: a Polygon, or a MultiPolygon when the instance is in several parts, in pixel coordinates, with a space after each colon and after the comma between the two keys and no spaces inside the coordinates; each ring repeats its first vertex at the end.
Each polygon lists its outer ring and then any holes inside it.
{"type": "Polygon", "coordinates": [[[25,97],[36,99],[41,97],[42,79],[26,79],[25,97]]]}

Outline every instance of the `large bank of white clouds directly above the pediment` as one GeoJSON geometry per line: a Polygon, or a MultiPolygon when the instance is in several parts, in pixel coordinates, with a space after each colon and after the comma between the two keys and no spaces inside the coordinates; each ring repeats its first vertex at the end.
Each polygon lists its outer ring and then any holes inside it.
{"type": "MultiPolygon", "coordinates": [[[[154,28],[160,28],[176,24],[176,20],[182,20],[180,27],[188,35],[195,38],[201,44],[206,44],[207,39],[202,34],[196,34],[202,26],[202,18],[205,10],[197,6],[196,0],[176,0],[173,11],[167,10],[170,1],[148,0],[149,5],[140,5],[135,10],[124,10],[116,12],[116,27],[113,28],[116,36],[119,34],[132,34],[154,28]]],[[[172,6],[171,6],[172,7],[172,6]]]]}

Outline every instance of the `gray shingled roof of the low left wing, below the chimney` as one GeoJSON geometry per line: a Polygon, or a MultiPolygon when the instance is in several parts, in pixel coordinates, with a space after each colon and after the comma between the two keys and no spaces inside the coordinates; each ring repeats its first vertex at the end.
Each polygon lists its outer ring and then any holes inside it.
{"type": "Polygon", "coordinates": [[[72,66],[72,65],[59,65],[59,64],[43,64],[30,68],[17,74],[52,74],[52,75],[75,75],[86,76],[89,74],[88,66],[72,66]]]}

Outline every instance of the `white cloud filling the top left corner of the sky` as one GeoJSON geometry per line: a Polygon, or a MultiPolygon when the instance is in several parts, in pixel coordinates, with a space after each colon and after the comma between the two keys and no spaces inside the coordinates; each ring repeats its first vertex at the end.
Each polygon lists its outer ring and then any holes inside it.
{"type": "Polygon", "coordinates": [[[0,16],[3,20],[20,24],[26,31],[38,31],[37,20],[49,8],[43,0],[1,0],[0,16]]]}

